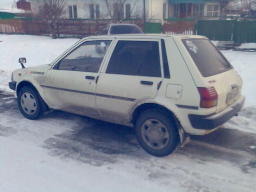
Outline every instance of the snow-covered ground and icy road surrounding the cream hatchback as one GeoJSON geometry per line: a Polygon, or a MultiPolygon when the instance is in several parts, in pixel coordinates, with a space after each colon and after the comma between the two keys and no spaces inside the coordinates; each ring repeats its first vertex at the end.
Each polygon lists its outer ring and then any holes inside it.
{"type": "Polygon", "coordinates": [[[78,39],[0,35],[0,191],[256,191],[256,53],[222,51],[244,81],[240,116],[156,158],[133,130],[65,112],[24,118],[11,71],[47,64],[78,39]]]}

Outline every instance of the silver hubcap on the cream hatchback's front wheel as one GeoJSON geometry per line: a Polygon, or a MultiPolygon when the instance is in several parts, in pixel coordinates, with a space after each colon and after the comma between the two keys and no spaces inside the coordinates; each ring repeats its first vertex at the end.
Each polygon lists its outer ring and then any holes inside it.
{"type": "Polygon", "coordinates": [[[36,112],[36,99],[30,93],[22,94],[20,104],[26,114],[32,115],[36,112]]]}

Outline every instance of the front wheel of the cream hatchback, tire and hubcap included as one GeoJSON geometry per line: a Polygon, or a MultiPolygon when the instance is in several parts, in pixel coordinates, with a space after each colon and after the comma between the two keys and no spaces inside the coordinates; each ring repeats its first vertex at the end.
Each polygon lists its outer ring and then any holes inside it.
{"type": "Polygon", "coordinates": [[[42,104],[38,92],[32,86],[25,86],[18,92],[18,107],[22,115],[36,120],[42,115],[42,104]]]}

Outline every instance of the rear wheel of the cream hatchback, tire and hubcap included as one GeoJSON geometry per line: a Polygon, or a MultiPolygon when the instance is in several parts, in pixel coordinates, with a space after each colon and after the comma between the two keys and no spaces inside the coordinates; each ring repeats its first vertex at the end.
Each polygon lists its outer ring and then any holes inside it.
{"type": "Polygon", "coordinates": [[[140,146],[154,156],[168,156],[179,146],[176,122],[165,110],[142,112],[136,121],[135,131],[140,146]]]}

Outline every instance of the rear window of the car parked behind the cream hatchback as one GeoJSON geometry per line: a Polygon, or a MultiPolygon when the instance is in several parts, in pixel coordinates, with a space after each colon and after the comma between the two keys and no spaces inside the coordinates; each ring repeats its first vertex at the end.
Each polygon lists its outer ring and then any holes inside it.
{"type": "Polygon", "coordinates": [[[138,26],[114,25],[110,28],[110,34],[140,34],[143,33],[138,26]]]}

